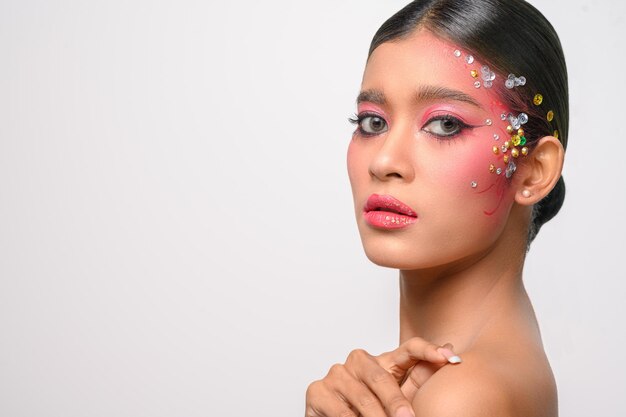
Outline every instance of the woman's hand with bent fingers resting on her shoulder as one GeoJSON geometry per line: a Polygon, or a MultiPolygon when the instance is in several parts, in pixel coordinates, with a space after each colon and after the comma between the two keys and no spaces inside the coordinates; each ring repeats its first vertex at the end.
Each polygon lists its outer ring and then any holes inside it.
{"type": "Polygon", "coordinates": [[[345,364],[309,385],[305,416],[413,417],[417,389],[446,363],[461,361],[451,348],[414,337],[379,356],[354,350],[345,364]]]}

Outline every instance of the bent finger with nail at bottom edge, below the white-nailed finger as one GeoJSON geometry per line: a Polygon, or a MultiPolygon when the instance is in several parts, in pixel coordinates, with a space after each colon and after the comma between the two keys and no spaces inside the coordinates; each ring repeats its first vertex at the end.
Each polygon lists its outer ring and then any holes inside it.
{"type": "MultiPolygon", "coordinates": [[[[412,417],[411,403],[402,395],[398,381],[383,367],[376,358],[365,351],[353,351],[346,361],[346,369],[352,372],[356,380],[373,392],[381,404],[386,416],[412,417]]],[[[356,405],[352,400],[351,404],[356,405]]],[[[360,411],[360,410],[359,410],[360,411]]]]}

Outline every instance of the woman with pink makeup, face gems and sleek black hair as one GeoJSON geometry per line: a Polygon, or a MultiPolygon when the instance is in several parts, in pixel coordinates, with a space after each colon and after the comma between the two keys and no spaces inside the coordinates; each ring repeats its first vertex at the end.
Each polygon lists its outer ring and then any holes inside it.
{"type": "Polygon", "coordinates": [[[565,192],[554,29],[521,0],[414,1],[374,36],[357,104],[357,224],[368,258],[399,270],[401,344],[334,365],[307,417],[556,416],[522,282],[565,192]]]}

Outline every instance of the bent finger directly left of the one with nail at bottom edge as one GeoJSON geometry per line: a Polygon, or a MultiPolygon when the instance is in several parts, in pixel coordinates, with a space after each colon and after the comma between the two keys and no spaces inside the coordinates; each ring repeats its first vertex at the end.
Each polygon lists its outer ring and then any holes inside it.
{"type": "MultiPolygon", "coordinates": [[[[386,373],[382,368],[381,371],[386,373]]],[[[370,390],[358,376],[348,370],[347,361],[346,365],[331,367],[324,382],[332,392],[345,400],[352,409],[358,411],[363,417],[386,417],[383,405],[376,393],[370,390]]],[[[400,387],[397,388],[401,395],[400,387]]]]}

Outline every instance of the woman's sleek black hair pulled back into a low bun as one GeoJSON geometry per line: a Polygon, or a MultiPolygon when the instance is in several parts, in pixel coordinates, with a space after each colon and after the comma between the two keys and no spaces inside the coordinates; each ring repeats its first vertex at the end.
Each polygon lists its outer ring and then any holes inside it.
{"type": "MultiPolygon", "coordinates": [[[[499,88],[504,102],[515,114],[528,114],[524,125],[527,145],[544,136],[558,136],[567,148],[569,93],[567,67],[559,37],[548,20],[523,0],[417,0],[389,18],[378,29],[370,45],[372,52],[385,42],[401,40],[419,29],[462,47],[493,70],[500,79],[513,73],[526,78],[524,87],[499,88]],[[535,94],[543,96],[539,106],[535,94]],[[554,112],[548,122],[546,115],[554,112]],[[556,134],[555,132],[558,132],[556,134]]],[[[494,84],[494,89],[496,85],[494,84]]],[[[533,206],[528,244],[541,226],[560,210],[565,183],[556,186],[533,206]]]]}

